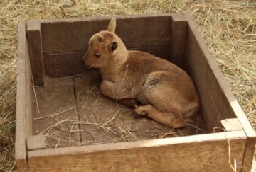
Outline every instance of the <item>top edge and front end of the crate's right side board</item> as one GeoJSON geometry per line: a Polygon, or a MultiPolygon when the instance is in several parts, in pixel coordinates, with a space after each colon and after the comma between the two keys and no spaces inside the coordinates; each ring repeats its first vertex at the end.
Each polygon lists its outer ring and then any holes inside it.
{"type": "Polygon", "coordinates": [[[240,124],[242,125],[242,129],[245,131],[245,134],[247,135],[247,142],[245,146],[245,157],[244,157],[244,165],[242,167],[242,171],[250,171],[250,168],[252,166],[252,159],[254,154],[254,148],[255,148],[255,142],[256,142],[256,134],[253,130],[252,126],[250,125],[250,122],[247,120],[247,117],[245,113],[242,111],[242,108],[240,108],[240,105],[238,101],[236,100],[235,96],[233,96],[232,91],[230,90],[227,82],[225,81],[223,75],[220,72],[220,69],[218,69],[218,66],[213,59],[213,57],[210,55],[210,51],[208,50],[208,47],[206,43],[204,42],[202,36],[196,31],[196,24],[193,22],[193,18],[190,16],[188,12],[184,12],[184,15],[186,16],[186,19],[188,21],[188,24],[191,27],[192,32],[196,35],[196,40],[198,41],[198,44],[201,47],[201,50],[203,51],[204,55],[206,56],[206,60],[208,61],[208,64],[210,68],[214,71],[216,79],[218,83],[220,84],[223,93],[225,94],[225,97],[228,98],[228,101],[230,103],[230,106],[233,108],[233,111],[235,115],[238,117],[238,120],[240,121],[240,124]]]}

